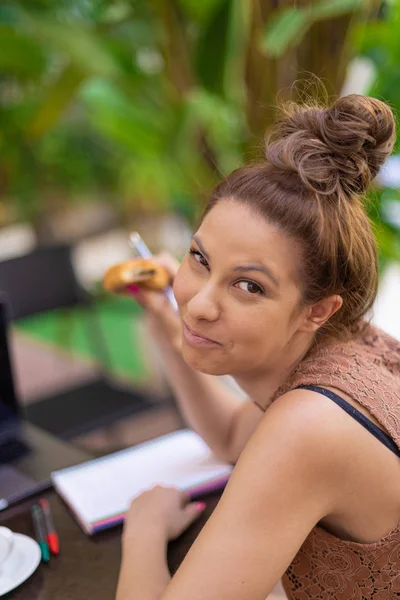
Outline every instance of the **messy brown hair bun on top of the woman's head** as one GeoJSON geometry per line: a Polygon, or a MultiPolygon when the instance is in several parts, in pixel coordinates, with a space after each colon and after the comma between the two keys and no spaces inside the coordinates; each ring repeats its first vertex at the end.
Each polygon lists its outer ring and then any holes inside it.
{"type": "Polygon", "coordinates": [[[390,155],[395,120],[376,98],[352,94],[329,108],[291,104],[268,136],[266,158],[322,195],[365,192],[390,155]]]}

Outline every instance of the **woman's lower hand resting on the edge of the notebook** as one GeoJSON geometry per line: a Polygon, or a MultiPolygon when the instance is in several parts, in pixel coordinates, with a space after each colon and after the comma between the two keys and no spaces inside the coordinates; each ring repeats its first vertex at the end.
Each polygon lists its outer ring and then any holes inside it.
{"type": "Polygon", "coordinates": [[[152,532],[165,542],[181,535],[204,511],[204,502],[190,502],[185,492],[172,487],[156,487],[132,501],[125,517],[124,543],[152,532]]]}

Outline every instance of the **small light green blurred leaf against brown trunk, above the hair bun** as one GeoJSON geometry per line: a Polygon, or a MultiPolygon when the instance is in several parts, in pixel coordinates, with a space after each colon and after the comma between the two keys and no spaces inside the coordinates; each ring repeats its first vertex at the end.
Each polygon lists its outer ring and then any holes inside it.
{"type": "Polygon", "coordinates": [[[309,13],[292,7],[277,12],[261,40],[261,50],[270,56],[281,56],[298,44],[311,25],[309,13]]]}

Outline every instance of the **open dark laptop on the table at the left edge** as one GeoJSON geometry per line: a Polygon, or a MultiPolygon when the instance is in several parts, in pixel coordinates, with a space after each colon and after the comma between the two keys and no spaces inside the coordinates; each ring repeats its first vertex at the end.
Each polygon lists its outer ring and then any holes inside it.
{"type": "Polygon", "coordinates": [[[91,458],[24,419],[11,364],[9,314],[7,296],[0,294],[0,510],[51,487],[52,471],[91,458]]]}

